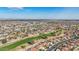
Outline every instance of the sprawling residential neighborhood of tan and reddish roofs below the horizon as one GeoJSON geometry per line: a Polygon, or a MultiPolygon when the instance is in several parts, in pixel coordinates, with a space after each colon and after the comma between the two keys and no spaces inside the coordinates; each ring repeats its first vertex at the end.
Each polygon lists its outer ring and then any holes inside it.
{"type": "Polygon", "coordinates": [[[73,51],[79,21],[0,21],[0,50],[73,51]]]}

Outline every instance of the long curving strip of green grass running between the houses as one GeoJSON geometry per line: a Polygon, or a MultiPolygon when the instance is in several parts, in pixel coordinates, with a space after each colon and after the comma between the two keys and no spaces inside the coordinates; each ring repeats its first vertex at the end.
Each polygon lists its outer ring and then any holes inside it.
{"type": "Polygon", "coordinates": [[[48,36],[55,36],[55,34],[56,34],[57,32],[58,32],[58,31],[49,32],[49,33],[47,33],[47,34],[40,34],[40,35],[35,36],[35,37],[25,38],[25,39],[23,39],[23,40],[14,42],[14,43],[12,43],[12,44],[10,44],[10,45],[4,46],[4,47],[0,47],[0,51],[8,51],[8,50],[11,50],[11,49],[16,48],[17,46],[19,46],[19,45],[21,45],[21,44],[28,43],[28,42],[33,42],[33,40],[45,39],[45,38],[47,38],[48,36]]]}

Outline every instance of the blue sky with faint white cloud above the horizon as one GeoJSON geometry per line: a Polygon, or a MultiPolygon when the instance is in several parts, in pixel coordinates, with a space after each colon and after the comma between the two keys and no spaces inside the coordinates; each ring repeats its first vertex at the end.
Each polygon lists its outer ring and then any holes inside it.
{"type": "Polygon", "coordinates": [[[0,19],[79,19],[73,7],[0,7],[0,19]]]}

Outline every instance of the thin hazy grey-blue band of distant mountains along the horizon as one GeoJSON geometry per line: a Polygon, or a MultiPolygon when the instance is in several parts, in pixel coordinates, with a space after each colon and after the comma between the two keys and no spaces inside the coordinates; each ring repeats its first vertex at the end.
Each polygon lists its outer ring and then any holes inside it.
{"type": "Polygon", "coordinates": [[[0,19],[1,21],[79,21],[79,19],[0,19]]]}

